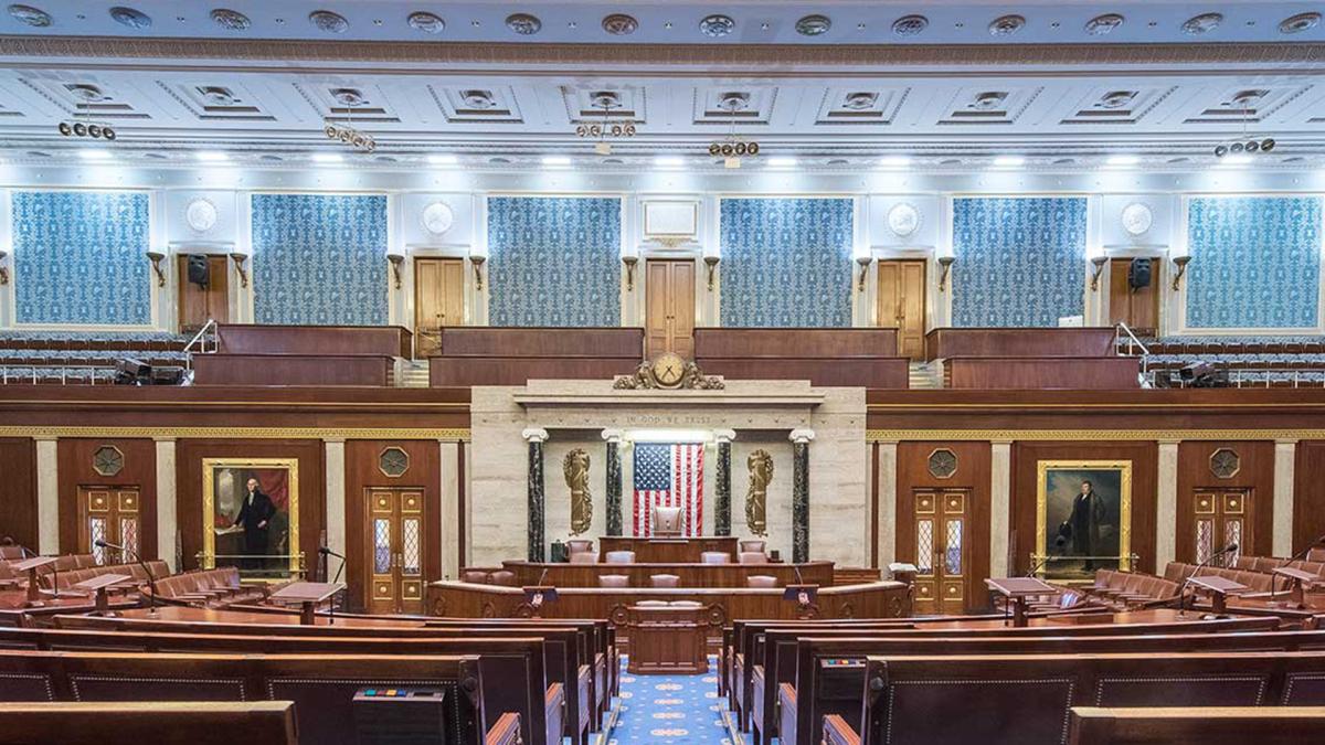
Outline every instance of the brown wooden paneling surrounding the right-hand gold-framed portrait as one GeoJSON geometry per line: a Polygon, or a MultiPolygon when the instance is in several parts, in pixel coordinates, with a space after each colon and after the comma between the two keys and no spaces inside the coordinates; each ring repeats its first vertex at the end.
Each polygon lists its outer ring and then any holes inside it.
{"type": "MultiPolygon", "coordinates": [[[[1132,553],[1140,571],[1155,570],[1155,496],[1159,447],[1153,441],[1080,441],[1012,444],[1012,565],[1008,574],[1026,574],[1035,551],[1036,472],[1040,460],[1132,461],[1132,553]]],[[[1162,567],[1161,567],[1162,569],[1162,567]]]]}

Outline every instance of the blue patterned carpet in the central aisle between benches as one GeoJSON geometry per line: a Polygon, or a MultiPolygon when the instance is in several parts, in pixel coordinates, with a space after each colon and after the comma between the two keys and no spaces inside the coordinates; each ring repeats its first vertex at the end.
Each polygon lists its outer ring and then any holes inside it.
{"type": "Polygon", "coordinates": [[[611,745],[731,745],[722,726],[718,660],[708,675],[631,675],[621,660],[621,718],[611,745]]]}

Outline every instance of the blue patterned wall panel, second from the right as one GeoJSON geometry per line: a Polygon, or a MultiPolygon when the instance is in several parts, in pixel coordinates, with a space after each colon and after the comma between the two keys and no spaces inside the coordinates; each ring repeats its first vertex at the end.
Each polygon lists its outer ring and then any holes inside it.
{"type": "Polygon", "coordinates": [[[1085,312],[1084,198],[953,200],[953,326],[1057,326],[1085,312]]]}

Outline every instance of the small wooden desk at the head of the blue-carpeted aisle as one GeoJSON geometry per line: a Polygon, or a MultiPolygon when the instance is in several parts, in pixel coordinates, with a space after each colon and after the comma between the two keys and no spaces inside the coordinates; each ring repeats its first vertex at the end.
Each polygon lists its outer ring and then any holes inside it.
{"type": "Polygon", "coordinates": [[[708,610],[685,606],[631,606],[627,627],[636,675],[698,675],[709,672],[708,610]]]}

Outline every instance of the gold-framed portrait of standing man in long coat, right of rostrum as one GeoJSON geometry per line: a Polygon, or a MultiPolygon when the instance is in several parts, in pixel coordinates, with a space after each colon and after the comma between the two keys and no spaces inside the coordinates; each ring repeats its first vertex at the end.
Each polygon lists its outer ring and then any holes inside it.
{"type": "Polygon", "coordinates": [[[1132,569],[1132,461],[1041,460],[1035,561],[1048,579],[1132,569]]]}

